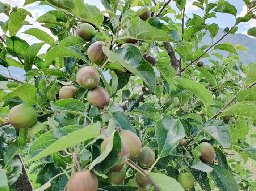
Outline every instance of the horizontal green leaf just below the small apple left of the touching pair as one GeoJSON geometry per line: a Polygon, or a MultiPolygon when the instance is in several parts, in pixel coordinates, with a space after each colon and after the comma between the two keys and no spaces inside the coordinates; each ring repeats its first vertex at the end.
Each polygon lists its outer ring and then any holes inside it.
{"type": "Polygon", "coordinates": [[[86,107],[83,102],[77,99],[62,99],[56,102],[50,101],[52,110],[68,110],[78,112],[83,115],[86,107]]]}

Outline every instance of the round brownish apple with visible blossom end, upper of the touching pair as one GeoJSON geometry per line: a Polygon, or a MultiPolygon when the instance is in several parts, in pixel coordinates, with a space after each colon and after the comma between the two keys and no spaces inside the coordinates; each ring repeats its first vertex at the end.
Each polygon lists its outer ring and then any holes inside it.
{"type": "Polygon", "coordinates": [[[97,87],[100,81],[100,74],[95,67],[84,66],[76,75],[77,82],[85,89],[92,89],[97,87]]]}

